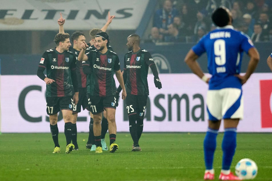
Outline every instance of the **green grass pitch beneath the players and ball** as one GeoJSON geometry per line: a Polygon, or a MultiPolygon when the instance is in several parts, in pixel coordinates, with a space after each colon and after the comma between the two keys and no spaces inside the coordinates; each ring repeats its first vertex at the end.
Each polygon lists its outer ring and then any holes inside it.
{"type": "MultiPolygon", "coordinates": [[[[115,153],[90,152],[85,147],[88,133],[78,133],[79,151],[65,154],[65,136],[59,133],[61,153],[53,154],[50,133],[2,133],[0,135],[0,180],[203,180],[205,133],[143,133],[141,152],[132,152],[130,133],[117,133],[115,153]]],[[[221,140],[217,137],[215,180],[221,170],[221,140]]],[[[109,137],[106,134],[109,147],[109,137]]],[[[272,180],[272,133],[238,133],[231,165],[242,158],[257,163],[254,180],[272,180]]]]}

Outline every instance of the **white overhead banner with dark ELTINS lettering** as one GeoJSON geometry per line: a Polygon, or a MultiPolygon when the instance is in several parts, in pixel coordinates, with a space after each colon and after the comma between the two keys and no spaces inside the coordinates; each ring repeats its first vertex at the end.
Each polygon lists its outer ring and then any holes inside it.
{"type": "Polygon", "coordinates": [[[102,28],[108,11],[115,19],[108,29],[136,29],[148,1],[8,0],[1,1],[0,30],[56,30],[59,13],[65,30],[102,28]]]}

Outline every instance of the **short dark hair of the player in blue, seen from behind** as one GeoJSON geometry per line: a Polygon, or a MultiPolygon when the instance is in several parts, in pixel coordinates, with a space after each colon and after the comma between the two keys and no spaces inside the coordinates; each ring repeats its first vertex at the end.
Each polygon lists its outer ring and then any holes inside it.
{"type": "Polygon", "coordinates": [[[213,23],[219,27],[227,26],[229,18],[229,13],[223,7],[217,8],[212,14],[213,23]]]}

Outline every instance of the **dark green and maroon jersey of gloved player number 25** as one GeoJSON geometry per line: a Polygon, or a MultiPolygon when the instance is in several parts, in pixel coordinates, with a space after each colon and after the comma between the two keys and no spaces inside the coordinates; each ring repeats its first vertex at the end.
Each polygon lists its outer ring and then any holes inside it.
{"type": "Polygon", "coordinates": [[[126,92],[133,95],[149,95],[147,74],[154,64],[150,53],[144,49],[125,54],[124,73],[126,73],[126,92]]]}

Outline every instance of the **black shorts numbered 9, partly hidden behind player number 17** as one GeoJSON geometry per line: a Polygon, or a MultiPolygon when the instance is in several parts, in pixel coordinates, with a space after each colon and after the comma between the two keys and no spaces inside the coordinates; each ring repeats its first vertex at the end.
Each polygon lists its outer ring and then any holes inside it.
{"type": "Polygon", "coordinates": [[[89,110],[88,108],[88,99],[87,99],[87,88],[78,88],[78,104],[73,105],[73,114],[76,114],[81,111],[82,109],[89,110]]]}

